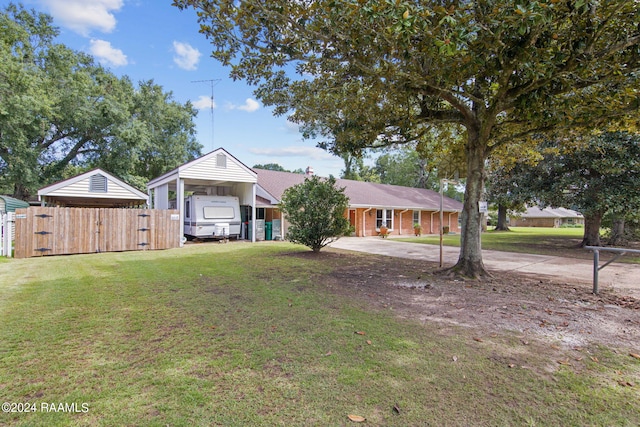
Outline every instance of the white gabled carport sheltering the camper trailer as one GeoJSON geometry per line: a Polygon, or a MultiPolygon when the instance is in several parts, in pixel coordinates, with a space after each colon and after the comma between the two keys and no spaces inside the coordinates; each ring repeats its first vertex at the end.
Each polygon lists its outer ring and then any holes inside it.
{"type": "MultiPolygon", "coordinates": [[[[236,196],[247,219],[256,217],[258,175],[223,148],[185,163],[147,184],[152,209],[177,209],[184,224],[187,194],[236,196]]],[[[255,241],[255,221],[250,221],[251,241],[255,241]]],[[[246,238],[247,236],[245,236],[246,238]]]]}

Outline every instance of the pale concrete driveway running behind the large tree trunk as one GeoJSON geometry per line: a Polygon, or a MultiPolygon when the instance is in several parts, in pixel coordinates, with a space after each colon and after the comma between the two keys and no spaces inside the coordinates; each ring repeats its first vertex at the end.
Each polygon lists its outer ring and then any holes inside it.
{"type": "MultiPolygon", "coordinates": [[[[380,237],[343,237],[332,243],[331,247],[436,263],[440,261],[440,247],[437,245],[397,242],[380,237]]],[[[445,246],[445,267],[454,265],[459,253],[459,248],[445,246]]],[[[489,271],[536,274],[567,283],[577,282],[593,286],[593,261],[589,260],[490,250],[482,251],[482,259],[489,271]]],[[[600,265],[603,263],[601,261],[600,265]]],[[[600,271],[598,282],[600,290],[614,289],[640,297],[640,265],[616,262],[609,264],[600,271]]]]}

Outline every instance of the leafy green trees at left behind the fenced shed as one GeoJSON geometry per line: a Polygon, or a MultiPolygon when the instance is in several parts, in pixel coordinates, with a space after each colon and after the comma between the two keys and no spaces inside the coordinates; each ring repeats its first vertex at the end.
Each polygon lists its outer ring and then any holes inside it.
{"type": "Polygon", "coordinates": [[[0,12],[0,189],[26,199],[43,185],[102,167],[143,187],[200,154],[190,103],[153,81],[137,87],[56,44],[49,15],[0,12]]]}

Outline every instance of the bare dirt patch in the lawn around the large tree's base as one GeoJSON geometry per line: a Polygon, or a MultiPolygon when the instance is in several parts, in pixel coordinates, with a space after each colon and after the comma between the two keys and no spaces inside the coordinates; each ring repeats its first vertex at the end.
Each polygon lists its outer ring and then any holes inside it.
{"type": "Polygon", "coordinates": [[[640,299],[611,290],[596,296],[590,284],[513,273],[456,281],[438,274],[434,263],[337,249],[292,256],[333,266],[320,279],[332,292],[400,317],[472,328],[478,337],[508,330],[523,341],[542,338],[565,348],[603,344],[640,351],[640,299]]]}

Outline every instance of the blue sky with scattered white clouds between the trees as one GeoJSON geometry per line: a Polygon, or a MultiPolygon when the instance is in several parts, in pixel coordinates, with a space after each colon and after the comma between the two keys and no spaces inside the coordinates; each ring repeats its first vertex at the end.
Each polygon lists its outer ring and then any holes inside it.
{"type": "MultiPolygon", "coordinates": [[[[9,3],[0,0],[3,9],[9,3]]],[[[211,45],[198,33],[195,11],[180,11],[171,0],[14,3],[51,15],[61,31],[58,43],[91,54],[116,75],[136,83],[154,80],[177,102],[190,100],[199,109],[195,123],[204,153],[223,147],[247,166],[312,166],[321,176],[338,176],[343,169],[340,158],[303,140],[286,117],[274,117],[254,97],[253,87],[228,77],[229,70],[210,57],[211,45]],[[215,80],[213,120],[209,80],[215,80]]]]}

